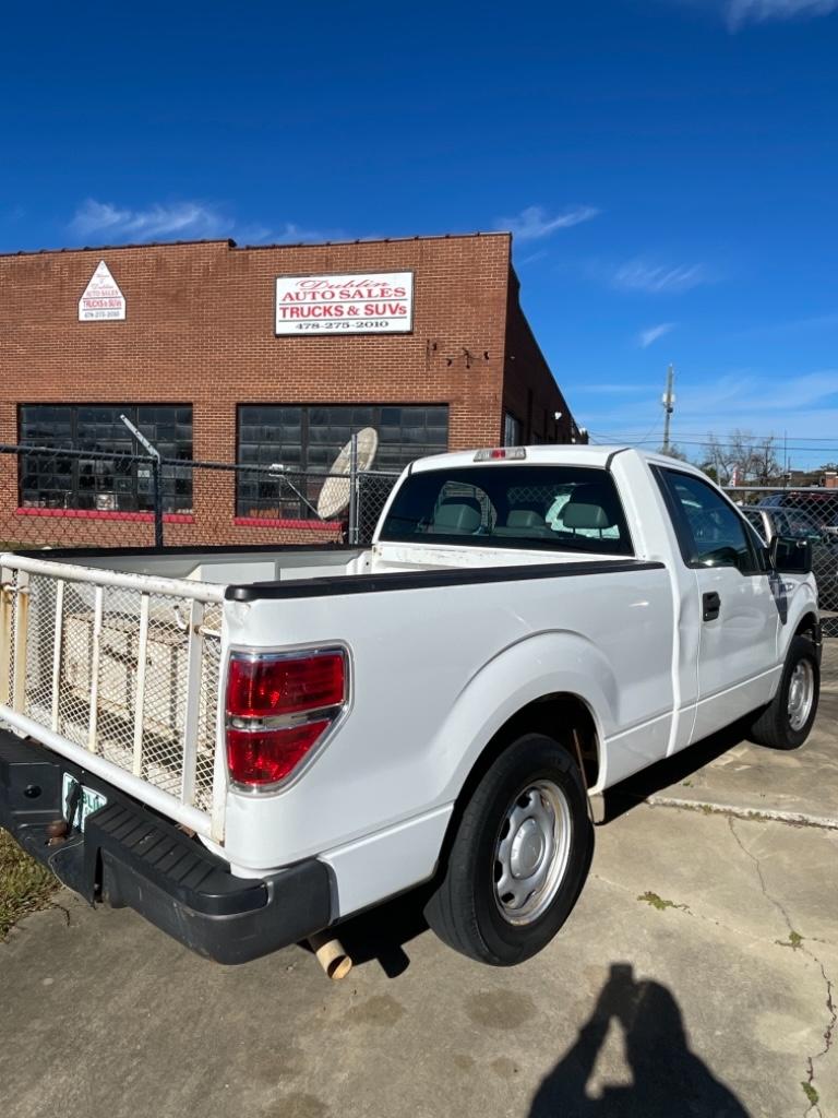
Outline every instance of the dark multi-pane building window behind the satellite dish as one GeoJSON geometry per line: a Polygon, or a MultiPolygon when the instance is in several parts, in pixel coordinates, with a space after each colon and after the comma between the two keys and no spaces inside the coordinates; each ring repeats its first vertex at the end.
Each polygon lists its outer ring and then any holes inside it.
{"type": "MultiPolygon", "coordinates": [[[[373,470],[401,470],[415,458],[448,449],[448,408],[442,405],[248,404],[239,407],[238,461],[325,473],[353,432],[363,427],[374,427],[379,436],[373,470]]],[[[287,484],[247,472],[237,479],[239,517],[299,515],[294,505],[287,484]]]]}

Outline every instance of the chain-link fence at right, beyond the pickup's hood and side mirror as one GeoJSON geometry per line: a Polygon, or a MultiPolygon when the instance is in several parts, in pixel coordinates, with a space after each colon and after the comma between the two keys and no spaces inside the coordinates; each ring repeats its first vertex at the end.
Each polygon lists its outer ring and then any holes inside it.
{"type": "Polygon", "coordinates": [[[772,489],[737,485],[729,496],[760,536],[809,540],[823,632],[838,636],[838,489],[772,489]]]}

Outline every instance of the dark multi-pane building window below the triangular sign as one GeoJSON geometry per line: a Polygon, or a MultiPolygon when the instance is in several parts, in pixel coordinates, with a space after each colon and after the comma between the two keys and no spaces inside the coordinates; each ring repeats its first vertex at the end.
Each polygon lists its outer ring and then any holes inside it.
{"type": "MultiPolygon", "coordinates": [[[[80,509],[99,512],[151,512],[154,508],[149,463],[120,419],[127,418],[164,458],[192,458],[192,408],[188,405],[20,406],[20,442],[55,447],[50,454],[20,455],[20,503],[28,509],[80,509]],[[109,457],[76,457],[63,448],[95,451],[109,457]]],[[[190,512],[192,471],[164,466],[164,512],[190,512]]]]}

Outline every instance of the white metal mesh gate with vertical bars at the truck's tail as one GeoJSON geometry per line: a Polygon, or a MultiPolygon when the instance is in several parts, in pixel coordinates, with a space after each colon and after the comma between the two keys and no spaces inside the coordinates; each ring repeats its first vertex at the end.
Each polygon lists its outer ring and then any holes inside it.
{"type": "Polygon", "coordinates": [[[223,587],[0,557],[0,720],[223,837],[223,587]]]}

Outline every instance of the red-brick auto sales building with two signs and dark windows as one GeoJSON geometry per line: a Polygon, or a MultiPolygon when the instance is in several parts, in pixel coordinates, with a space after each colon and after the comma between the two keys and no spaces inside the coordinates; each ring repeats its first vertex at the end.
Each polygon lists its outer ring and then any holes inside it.
{"type": "Polygon", "coordinates": [[[61,518],[66,538],[74,520],[99,533],[146,521],[149,472],[116,457],[136,448],[122,414],[168,458],[254,470],[169,468],[172,542],[207,539],[210,521],[212,538],[264,538],[287,509],[265,508],[256,470],[325,471],[362,427],[378,432],[381,471],[578,438],[521,310],[511,239],[0,256],[0,443],[115,455],[0,455],[0,536],[10,518],[16,539],[37,518],[61,518]]]}

